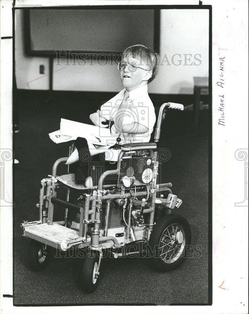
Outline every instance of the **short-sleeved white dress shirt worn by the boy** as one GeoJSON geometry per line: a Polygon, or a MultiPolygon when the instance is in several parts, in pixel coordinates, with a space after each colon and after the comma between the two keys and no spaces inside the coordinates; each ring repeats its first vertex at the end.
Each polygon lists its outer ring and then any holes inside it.
{"type": "Polygon", "coordinates": [[[156,122],[156,115],[147,90],[147,85],[144,85],[129,92],[128,106],[123,119],[123,125],[133,122],[144,125],[148,128],[146,133],[135,134],[136,132],[134,130],[134,133],[132,132],[133,134],[131,134],[129,138],[124,138],[123,134],[115,127],[115,116],[124,98],[125,89],[122,89],[117,95],[101,106],[101,115],[106,120],[114,121],[114,125],[111,128],[111,137],[110,140],[108,140],[109,143],[116,143],[118,136],[121,138],[121,144],[150,141],[151,133],[156,122]]]}

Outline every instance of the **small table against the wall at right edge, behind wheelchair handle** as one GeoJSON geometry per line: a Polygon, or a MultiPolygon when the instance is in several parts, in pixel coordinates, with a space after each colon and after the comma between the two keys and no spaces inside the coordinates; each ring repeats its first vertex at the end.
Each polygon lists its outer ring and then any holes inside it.
{"type": "Polygon", "coordinates": [[[195,76],[194,77],[194,132],[197,134],[198,131],[198,120],[199,120],[199,106],[200,106],[200,95],[208,95],[208,77],[195,76]]]}

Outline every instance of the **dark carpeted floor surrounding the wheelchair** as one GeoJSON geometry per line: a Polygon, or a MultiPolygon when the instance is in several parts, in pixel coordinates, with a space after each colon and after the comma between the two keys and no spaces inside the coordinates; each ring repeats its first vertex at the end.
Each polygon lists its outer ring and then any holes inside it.
{"type": "MultiPolygon", "coordinates": [[[[43,104],[39,99],[27,99],[19,107],[20,131],[14,143],[15,158],[19,160],[14,165],[14,304],[207,303],[207,111],[201,112],[198,137],[193,136],[189,111],[167,112],[161,133],[162,147],[171,152],[171,159],[162,167],[163,182],[172,182],[173,193],[183,199],[177,213],[188,219],[192,244],[201,247],[200,257],[186,258],[181,268],[169,273],[152,270],[142,258],[105,258],[101,280],[93,294],[85,294],[79,288],[81,258],[53,257],[44,271],[34,273],[29,269],[29,239],[21,236],[20,224],[38,219],[35,204],[39,202],[39,182],[51,174],[56,159],[68,156],[68,144],[53,143],[48,133],[60,128],[61,117],[87,122],[96,109],[62,103],[43,104]]],[[[65,173],[66,167],[63,170],[61,166],[60,171],[65,173]]]]}

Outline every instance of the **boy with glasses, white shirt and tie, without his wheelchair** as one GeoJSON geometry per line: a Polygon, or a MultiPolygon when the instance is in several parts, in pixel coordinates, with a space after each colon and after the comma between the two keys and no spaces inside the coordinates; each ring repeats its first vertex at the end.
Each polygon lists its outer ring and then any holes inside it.
{"type": "MultiPolygon", "coordinates": [[[[98,127],[108,127],[107,121],[111,122],[109,143],[150,141],[156,115],[147,92],[147,84],[156,77],[158,61],[158,54],[146,46],[134,45],[125,49],[122,61],[118,63],[124,89],[90,115],[90,120],[98,127]]],[[[117,148],[117,143],[113,148],[117,148]]],[[[88,162],[82,158],[82,155],[91,154],[86,139],[77,138],[75,146],[79,154],[75,181],[92,187],[93,179],[88,173],[88,162]]],[[[91,161],[98,163],[99,155],[94,155],[91,161]]],[[[106,162],[104,167],[105,171],[111,170],[115,169],[116,164],[106,162]]]]}

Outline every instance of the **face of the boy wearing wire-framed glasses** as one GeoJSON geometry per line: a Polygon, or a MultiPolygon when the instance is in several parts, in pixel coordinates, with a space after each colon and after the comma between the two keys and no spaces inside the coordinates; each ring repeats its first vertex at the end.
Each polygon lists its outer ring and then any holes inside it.
{"type": "Polygon", "coordinates": [[[122,84],[128,92],[148,83],[147,81],[151,77],[151,72],[146,71],[150,70],[150,68],[146,65],[145,61],[143,61],[140,57],[127,55],[122,58],[122,62],[135,63],[137,66],[142,68],[136,68],[136,71],[132,72],[126,65],[125,68],[120,71],[122,84]]]}

